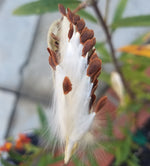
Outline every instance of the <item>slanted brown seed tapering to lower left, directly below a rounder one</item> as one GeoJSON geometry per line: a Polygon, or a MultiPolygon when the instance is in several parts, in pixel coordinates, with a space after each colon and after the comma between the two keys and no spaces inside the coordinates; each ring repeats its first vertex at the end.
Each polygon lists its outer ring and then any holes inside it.
{"type": "Polygon", "coordinates": [[[95,43],[96,43],[96,39],[95,38],[87,40],[84,43],[84,47],[83,47],[83,50],[82,50],[82,56],[85,57],[86,53],[93,48],[93,46],[95,45],[95,43]]]}

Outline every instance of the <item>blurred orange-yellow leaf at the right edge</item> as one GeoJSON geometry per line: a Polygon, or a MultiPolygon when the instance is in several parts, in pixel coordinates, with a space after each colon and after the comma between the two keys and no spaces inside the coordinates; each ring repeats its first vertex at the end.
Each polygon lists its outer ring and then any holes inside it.
{"type": "Polygon", "coordinates": [[[150,45],[128,45],[119,48],[118,51],[150,58],[150,45]]]}

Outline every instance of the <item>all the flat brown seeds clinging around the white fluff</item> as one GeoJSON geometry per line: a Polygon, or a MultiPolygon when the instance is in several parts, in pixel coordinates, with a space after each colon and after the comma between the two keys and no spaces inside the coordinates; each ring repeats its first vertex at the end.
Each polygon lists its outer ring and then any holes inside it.
{"type": "MultiPolygon", "coordinates": [[[[88,67],[87,67],[87,76],[91,78],[91,83],[93,83],[93,88],[91,91],[91,101],[90,101],[90,108],[95,102],[96,96],[95,96],[95,90],[98,86],[98,76],[101,73],[101,60],[98,58],[96,50],[94,48],[94,45],[96,43],[96,39],[94,37],[93,30],[88,29],[85,26],[85,22],[83,19],[80,19],[80,16],[73,13],[70,9],[64,8],[63,5],[59,4],[58,6],[60,13],[67,17],[68,21],[70,22],[70,28],[68,31],[68,39],[71,40],[74,31],[79,32],[80,34],[80,43],[83,45],[82,49],[82,55],[83,57],[88,57],[88,67]]],[[[58,41],[58,37],[56,37],[54,34],[51,34],[51,37],[58,41]]],[[[58,41],[59,43],[59,41],[58,41]]],[[[57,46],[57,43],[56,43],[57,46]]],[[[59,45],[57,46],[59,47],[59,45]]],[[[57,55],[57,52],[52,51],[50,48],[48,48],[48,52],[50,53],[49,57],[49,64],[52,66],[52,68],[55,70],[56,66],[59,64],[59,58],[57,55]]],[[[72,83],[69,79],[69,77],[65,77],[63,81],[63,91],[64,94],[68,94],[72,90],[72,83]]],[[[105,103],[106,98],[99,100],[97,110],[105,103]]]]}

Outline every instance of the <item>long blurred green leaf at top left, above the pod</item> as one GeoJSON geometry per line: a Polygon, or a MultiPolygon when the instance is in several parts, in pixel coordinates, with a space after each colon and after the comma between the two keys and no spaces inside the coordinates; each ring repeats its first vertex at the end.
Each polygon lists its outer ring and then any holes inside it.
{"type": "Polygon", "coordinates": [[[65,7],[77,6],[80,1],[78,0],[40,0],[30,2],[20,6],[13,11],[15,15],[32,15],[32,14],[43,14],[46,12],[54,12],[58,10],[58,4],[61,3],[65,7]]]}

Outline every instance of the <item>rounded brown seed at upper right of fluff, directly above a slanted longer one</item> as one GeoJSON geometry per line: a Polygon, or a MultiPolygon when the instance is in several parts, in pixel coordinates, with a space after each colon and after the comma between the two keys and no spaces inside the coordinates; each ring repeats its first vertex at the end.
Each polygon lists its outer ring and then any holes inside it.
{"type": "Polygon", "coordinates": [[[94,31],[89,30],[88,28],[84,28],[81,36],[80,36],[80,42],[84,44],[88,39],[92,39],[94,36],[94,31]]]}

